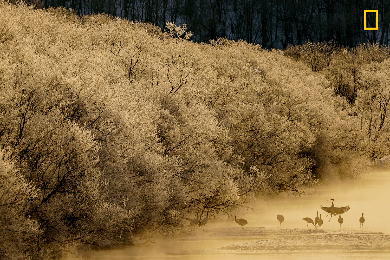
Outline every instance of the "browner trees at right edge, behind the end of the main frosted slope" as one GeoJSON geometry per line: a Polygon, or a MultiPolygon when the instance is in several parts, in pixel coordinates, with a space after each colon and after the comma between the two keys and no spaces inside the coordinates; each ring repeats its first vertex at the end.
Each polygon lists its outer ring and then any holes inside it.
{"type": "MultiPolygon", "coordinates": [[[[379,159],[388,155],[390,132],[387,127],[389,118],[386,110],[390,92],[386,87],[386,82],[388,82],[390,51],[387,46],[379,46],[378,43],[362,43],[354,48],[346,49],[336,48],[331,43],[308,42],[303,46],[290,46],[284,54],[294,61],[307,64],[312,71],[323,74],[329,81],[328,87],[333,89],[337,96],[351,104],[351,106],[346,105],[346,108],[348,107],[349,115],[353,119],[350,123],[350,131],[355,134],[349,137],[350,142],[347,146],[353,143],[353,146],[359,147],[358,154],[363,157],[358,156],[360,159],[357,161],[363,163],[358,163],[357,167],[348,168],[360,169],[356,172],[361,172],[366,168],[364,164],[367,158],[379,159]],[[325,47],[321,49],[320,46],[325,47]],[[328,55],[322,55],[327,53],[323,49],[331,48],[334,51],[328,55]],[[312,58],[307,58],[307,56],[312,58]],[[317,65],[326,64],[326,57],[330,60],[326,66],[317,65]]],[[[345,161],[344,156],[338,155],[337,157],[342,162],[345,161]]],[[[346,170],[342,172],[338,175],[344,176],[346,170]]]]}

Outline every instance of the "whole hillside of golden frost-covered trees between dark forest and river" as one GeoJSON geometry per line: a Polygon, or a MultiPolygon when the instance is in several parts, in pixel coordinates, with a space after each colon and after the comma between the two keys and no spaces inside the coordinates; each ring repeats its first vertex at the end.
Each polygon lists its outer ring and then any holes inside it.
{"type": "Polygon", "coordinates": [[[0,258],[191,232],[390,153],[389,50],[187,41],[0,2],[0,258]]]}

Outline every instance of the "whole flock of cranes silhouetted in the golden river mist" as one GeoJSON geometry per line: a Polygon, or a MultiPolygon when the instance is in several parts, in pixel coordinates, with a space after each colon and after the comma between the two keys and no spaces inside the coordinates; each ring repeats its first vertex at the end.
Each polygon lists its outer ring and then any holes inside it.
{"type": "MultiPolygon", "coordinates": [[[[340,223],[340,228],[341,228],[341,225],[342,223],[344,222],[344,219],[341,217],[341,214],[344,214],[345,212],[347,212],[349,210],[349,206],[345,206],[345,207],[335,207],[335,205],[333,205],[333,201],[334,199],[330,199],[332,200],[332,205],[330,207],[323,207],[321,205],[321,209],[323,209],[325,212],[329,213],[330,215],[330,219],[332,218],[332,215],[334,216],[337,216],[339,215],[339,223],[340,223]]],[[[327,215],[327,216],[329,216],[327,215]]],[[[282,222],[284,221],[284,217],[282,215],[276,215],[278,221],[280,222],[280,227],[282,227],[282,222]]],[[[209,212],[206,212],[206,218],[202,219],[199,221],[199,212],[197,212],[196,214],[196,218],[194,219],[190,219],[190,218],[186,218],[187,220],[191,221],[191,225],[199,225],[200,227],[203,228],[203,231],[204,231],[204,225],[207,224],[208,220],[209,220],[209,212]]],[[[330,221],[330,219],[328,220],[328,222],[330,221]]],[[[246,221],[245,219],[242,219],[242,218],[237,218],[237,217],[234,217],[234,220],[236,221],[236,223],[238,225],[241,226],[242,230],[244,230],[244,226],[246,224],[248,224],[248,221],[246,221]]],[[[315,228],[317,228],[317,225],[319,226],[319,228],[322,228],[322,224],[323,224],[323,219],[321,219],[321,214],[319,214],[319,217],[318,217],[318,211],[317,211],[317,217],[314,218],[314,221],[313,219],[311,218],[303,218],[303,220],[305,220],[307,222],[307,228],[310,228],[310,224],[312,224],[315,228]]],[[[363,223],[364,223],[364,214],[362,213],[362,217],[359,219],[359,222],[360,222],[360,227],[363,228],[363,223]]]]}

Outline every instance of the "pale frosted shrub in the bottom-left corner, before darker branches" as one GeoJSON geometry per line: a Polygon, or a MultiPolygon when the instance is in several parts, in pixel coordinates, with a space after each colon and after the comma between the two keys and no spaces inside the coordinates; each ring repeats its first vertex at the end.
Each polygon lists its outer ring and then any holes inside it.
{"type": "Polygon", "coordinates": [[[28,209],[37,197],[37,188],[23,178],[11,153],[0,149],[0,256],[2,259],[28,259],[41,231],[28,209]],[[4,257],[4,258],[3,258],[4,257]]]}

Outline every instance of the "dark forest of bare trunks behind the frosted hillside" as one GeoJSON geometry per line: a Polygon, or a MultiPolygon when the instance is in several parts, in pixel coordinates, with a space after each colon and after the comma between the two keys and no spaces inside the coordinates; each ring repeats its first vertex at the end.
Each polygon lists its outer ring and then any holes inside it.
{"type": "MultiPolygon", "coordinates": [[[[186,23],[193,41],[227,37],[286,48],[305,41],[333,40],[352,47],[360,42],[388,45],[388,0],[43,0],[45,7],[74,8],[79,15],[105,13],[149,22],[165,30],[167,21],[186,23]],[[378,30],[364,30],[363,12],[378,9],[378,30]]],[[[375,27],[375,14],[367,14],[375,27]]]]}

